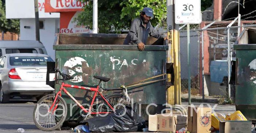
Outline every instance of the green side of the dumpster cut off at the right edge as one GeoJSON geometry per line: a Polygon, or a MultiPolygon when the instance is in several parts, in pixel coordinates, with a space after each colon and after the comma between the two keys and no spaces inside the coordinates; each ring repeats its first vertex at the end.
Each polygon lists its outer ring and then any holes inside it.
{"type": "Polygon", "coordinates": [[[256,120],[256,49],[237,49],[237,58],[236,109],[256,120]]]}

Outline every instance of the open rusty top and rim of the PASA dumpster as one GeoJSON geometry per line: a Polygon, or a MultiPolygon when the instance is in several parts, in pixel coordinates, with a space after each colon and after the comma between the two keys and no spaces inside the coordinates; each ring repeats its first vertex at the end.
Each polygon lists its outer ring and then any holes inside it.
{"type": "MultiPolygon", "coordinates": [[[[57,33],[54,50],[137,50],[137,45],[123,45],[127,34],[57,33]]],[[[144,50],[167,51],[168,42],[148,37],[144,50]]]]}

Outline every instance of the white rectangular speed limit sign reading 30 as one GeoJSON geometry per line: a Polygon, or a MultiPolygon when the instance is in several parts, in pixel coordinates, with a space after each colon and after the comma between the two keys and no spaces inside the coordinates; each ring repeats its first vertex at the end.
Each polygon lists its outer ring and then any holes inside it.
{"type": "Polygon", "coordinates": [[[201,21],[201,0],[175,0],[176,24],[199,24],[201,21]]]}

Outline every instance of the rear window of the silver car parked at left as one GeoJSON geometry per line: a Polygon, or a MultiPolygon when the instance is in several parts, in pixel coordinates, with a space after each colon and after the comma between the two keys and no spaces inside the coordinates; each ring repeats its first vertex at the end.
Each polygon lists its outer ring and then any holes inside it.
{"type": "Polygon", "coordinates": [[[10,65],[47,65],[46,62],[53,62],[50,57],[10,57],[10,65]]]}

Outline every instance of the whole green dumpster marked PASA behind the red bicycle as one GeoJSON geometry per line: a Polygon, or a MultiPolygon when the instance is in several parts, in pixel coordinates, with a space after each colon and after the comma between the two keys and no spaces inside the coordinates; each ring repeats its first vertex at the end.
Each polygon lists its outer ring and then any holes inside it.
{"type": "MultiPolygon", "coordinates": [[[[73,80],[67,81],[68,84],[97,85],[99,80],[93,78],[94,75],[110,77],[110,81],[102,82],[102,88],[118,88],[166,73],[168,46],[163,45],[163,40],[149,38],[149,45],[144,51],[139,51],[135,45],[122,45],[125,37],[122,34],[56,34],[53,46],[56,50],[56,67],[74,76],[73,80]]],[[[152,80],[163,78],[166,77],[152,80]]],[[[56,82],[55,91],[58,90],[59,84],[56,82]]],[[[81,104],[90,104],[93,93],[71,88],[67,90],[81,104]]],[[[165,108],[165,81],[128,88],[128,94],[133,102],[139,103],[145,120],[148,120],[146,112],[161,113],[165,108]]],[[[62,95],[68,106],[66,122],[82,120],[80,108],[65,93],[62,95]]]]}

